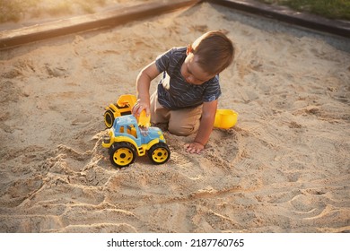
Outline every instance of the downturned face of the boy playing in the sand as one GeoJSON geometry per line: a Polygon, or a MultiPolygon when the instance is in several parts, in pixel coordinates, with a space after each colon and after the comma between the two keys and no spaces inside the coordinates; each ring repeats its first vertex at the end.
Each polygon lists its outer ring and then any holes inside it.
{"type": "Polygon", "coordinates": [[[181,74],[186,82],[191,84],[202,84],[212,79],[215,74],[207,74],[197,64],[197,56],[191,52],[188,52],[185,62],[181,65],[181,74]]]}

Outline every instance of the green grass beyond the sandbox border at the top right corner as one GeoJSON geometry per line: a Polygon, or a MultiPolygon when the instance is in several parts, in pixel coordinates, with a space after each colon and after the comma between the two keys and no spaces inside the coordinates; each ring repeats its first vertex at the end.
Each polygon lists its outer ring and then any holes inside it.
{"type": "Polygon", "coordinates": [[[314,13],[328,19],[350,20],[350,0],[258,0],[285,5],[299,12],[314,13]]]}

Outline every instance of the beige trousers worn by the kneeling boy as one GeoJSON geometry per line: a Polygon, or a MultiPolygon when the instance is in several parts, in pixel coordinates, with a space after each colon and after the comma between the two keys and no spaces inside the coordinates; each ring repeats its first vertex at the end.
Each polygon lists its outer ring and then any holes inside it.
{"type": "Polygon", "coordinates": [[[187,136],[197,132],[200,117],[202,116],[202,105],[196,108],[183,108],[171,110],[162,107],[158,102],[157,91],[151,96],[151,124],[165,126],[171,134],[187,136]]]}

